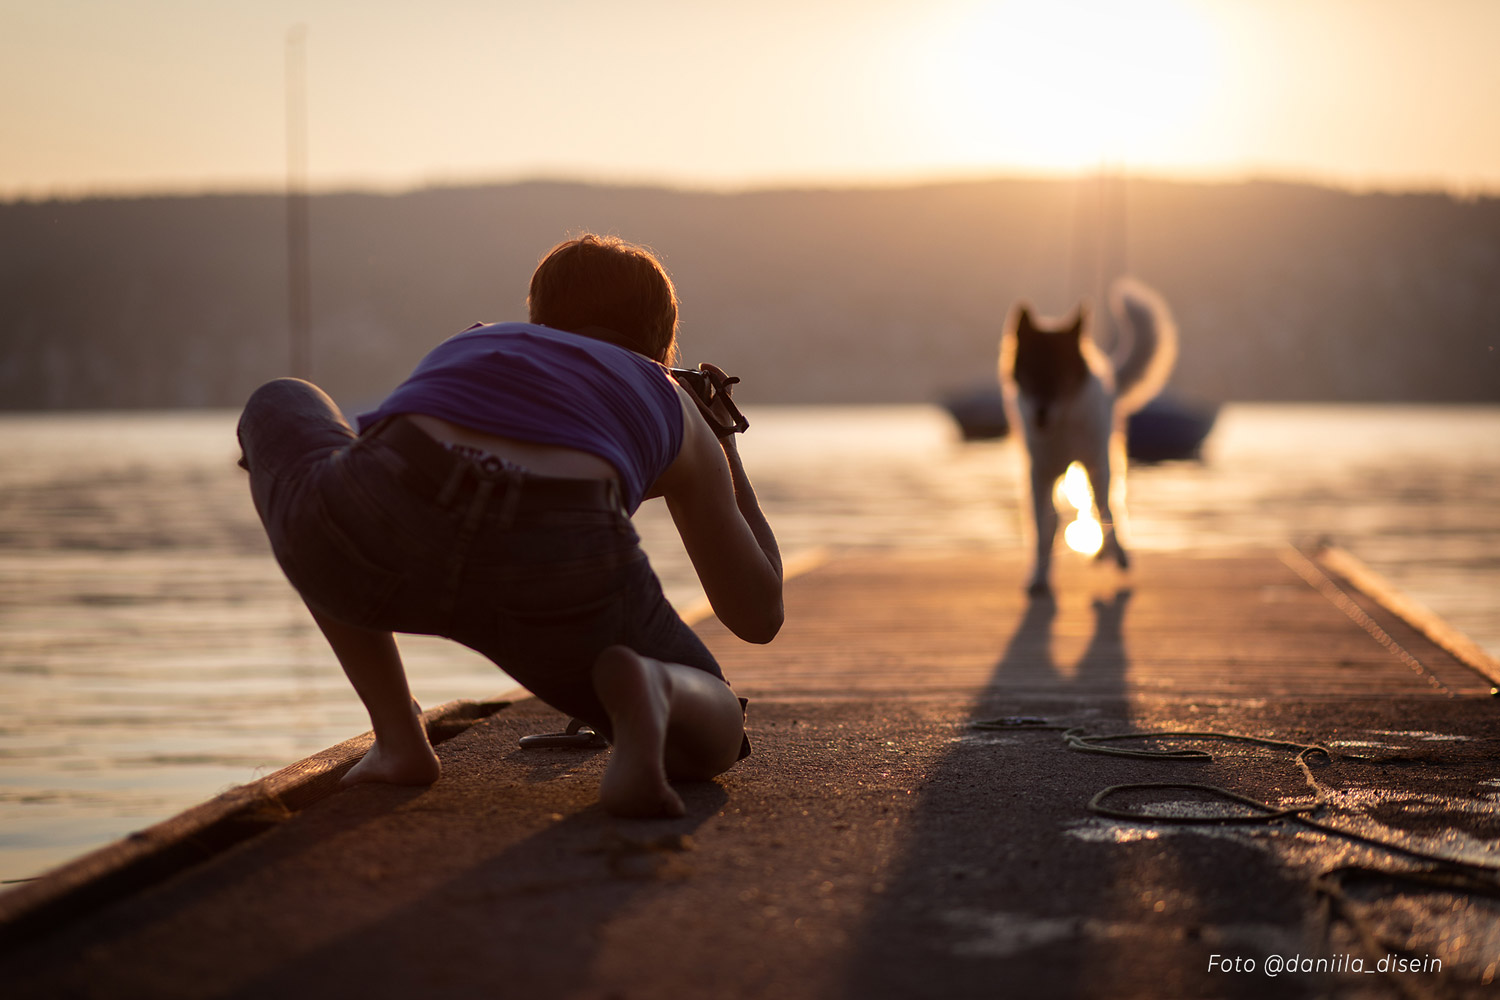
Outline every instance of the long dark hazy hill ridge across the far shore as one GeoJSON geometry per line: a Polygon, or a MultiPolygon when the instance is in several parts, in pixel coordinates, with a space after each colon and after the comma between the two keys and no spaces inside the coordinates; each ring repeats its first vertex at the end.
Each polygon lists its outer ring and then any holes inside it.
{"type": "MultiPolygon", "coordinates": [[[[522,319],[579,229],[654,246],[684,360],[750,402],[914,402],[993,378],[1005,310],[1128,267],[1173,387],[1216,400],[1500,400],[1500,199],[1284,183],[994,180],[705,193],[519,183],[318,195],[314,379],[378,399],[436,340],[522,319]]],[[[237,406],[288,358],[274,195],[0,205],[0,406],[237,406]]]]}

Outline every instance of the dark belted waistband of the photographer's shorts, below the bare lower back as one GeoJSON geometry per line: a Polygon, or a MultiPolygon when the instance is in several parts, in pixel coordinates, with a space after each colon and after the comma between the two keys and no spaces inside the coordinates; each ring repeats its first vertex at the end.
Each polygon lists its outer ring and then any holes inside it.
{"type": "Polygon", "coordinates": [[[434,496],[452,490],[458,477],[507,480],[519,496],[516,510],[610,510],[624,513],[620,483],[537,475],[504,462],[486,463],[447,448],[405,417],[388,417],[363,435],[362,441],[381,441],[399,453],[426,481],[434,496]]]}

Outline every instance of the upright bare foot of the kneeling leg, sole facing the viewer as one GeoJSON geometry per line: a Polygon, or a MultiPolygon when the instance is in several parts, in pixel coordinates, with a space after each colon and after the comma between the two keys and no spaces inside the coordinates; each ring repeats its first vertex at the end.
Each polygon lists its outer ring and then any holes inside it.
{"type": "Polygon", "coordinates": [[[666,781],[663,751],[672,681],[656,660],[610,646],[594,661],[594,691],[615,729],[614,750],[598,783],[612,816],[682,816],[687,807],[666,781]]]}

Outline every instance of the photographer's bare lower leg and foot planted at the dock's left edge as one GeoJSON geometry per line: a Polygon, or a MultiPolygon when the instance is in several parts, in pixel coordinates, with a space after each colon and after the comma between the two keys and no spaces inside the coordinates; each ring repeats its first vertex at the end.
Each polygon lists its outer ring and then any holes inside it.
{"type": "MultiPolygon", "coordinates": [[[[308,610],[312,610],[310,607],[308,610]]],[[[432,784],[442,772],[412,700],[392,633],[357,628],[312,610],[345,676],[364,703],[375,742],[339,784],[432,784]]]]}

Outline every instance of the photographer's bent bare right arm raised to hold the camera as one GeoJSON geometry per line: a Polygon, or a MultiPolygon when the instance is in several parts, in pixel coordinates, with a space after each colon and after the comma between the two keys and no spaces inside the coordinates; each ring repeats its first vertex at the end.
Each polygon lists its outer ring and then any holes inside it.
{"type": "Polygon", "coordinates": [[[657,481],[708,603],[729,631],[765,643],[782,628],[782,555],[740,462],[686,390],[682,450],[657,481]]]}

